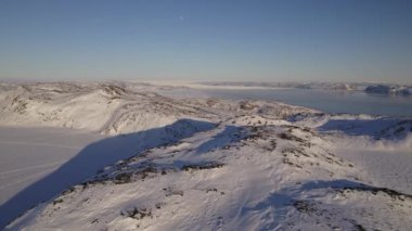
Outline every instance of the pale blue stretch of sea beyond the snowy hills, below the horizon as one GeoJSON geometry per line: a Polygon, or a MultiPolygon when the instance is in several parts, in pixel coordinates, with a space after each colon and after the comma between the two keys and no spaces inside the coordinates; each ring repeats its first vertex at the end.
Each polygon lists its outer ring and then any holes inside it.
{"type": "Polygon", "coordinates": [[[363,91],[312,89],[175,89],[170,97],[213,97],[230,100],[275,100],[327,113],[370,114],[412,118],[412,95],[376,95],[363,91]]]}

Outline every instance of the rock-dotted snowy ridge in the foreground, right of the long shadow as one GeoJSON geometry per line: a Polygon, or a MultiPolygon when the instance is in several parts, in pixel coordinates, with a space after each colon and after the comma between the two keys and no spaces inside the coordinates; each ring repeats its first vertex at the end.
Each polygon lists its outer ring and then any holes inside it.
{"type": "Polygon", "coordinates": [[[239,118],[245,120],[248,126],[221,123],[107,166],[10,228],[401,230],[411,224],[411,195],[373,185],[317,131],[239,118]]]}

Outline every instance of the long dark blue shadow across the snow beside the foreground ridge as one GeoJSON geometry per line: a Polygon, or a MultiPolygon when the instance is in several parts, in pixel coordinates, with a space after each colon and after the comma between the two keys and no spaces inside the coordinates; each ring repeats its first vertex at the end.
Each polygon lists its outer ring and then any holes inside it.
{"type": "Polygon", "coordinates": [[[69,185],[79,183],[107,165],[147,149],[178,142],[192,134],[214,129],[215,124],[180,119],[172,125],[146,131],[119,134],[91,143],[59,169],[18,192],[0,206],[0,229],[37,204],[51,200],[69,185]]]}

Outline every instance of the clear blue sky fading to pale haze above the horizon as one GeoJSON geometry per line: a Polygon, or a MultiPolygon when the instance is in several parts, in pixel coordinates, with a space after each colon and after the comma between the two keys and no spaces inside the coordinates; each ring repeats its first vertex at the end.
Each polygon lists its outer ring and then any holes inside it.
{"type": "Polygon", "coordinates": [[[0,78],[412,84],[412,1],[0,0],[0,78]]]}

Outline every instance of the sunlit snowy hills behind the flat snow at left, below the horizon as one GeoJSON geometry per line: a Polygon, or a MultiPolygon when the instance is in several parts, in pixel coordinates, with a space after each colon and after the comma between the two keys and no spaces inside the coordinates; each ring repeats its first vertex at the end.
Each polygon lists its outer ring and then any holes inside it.
{"type": "Polygon", "coordinates": [[[54,126],[118,134],[162,127],[180,118],[218,120],[224,112],[275,116],[306,111],[282,103],[178,101],[124,84],[2,85],[0,125],[54,126]],[[218,112],[215,112],[218,111],[218,112]],[[220,113],[222,112],[223,113],[220,113]]]}

